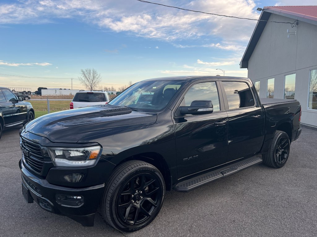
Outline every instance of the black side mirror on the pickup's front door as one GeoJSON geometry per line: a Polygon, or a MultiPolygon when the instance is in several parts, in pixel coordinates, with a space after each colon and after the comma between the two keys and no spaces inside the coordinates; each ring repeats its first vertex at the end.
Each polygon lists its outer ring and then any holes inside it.
{"type": "Polygon", "coordinates": [[[185,114],[208,114],[214,111],[211,100],[194,100],[191,106],[179,106],[179,112],[185,114]]]}

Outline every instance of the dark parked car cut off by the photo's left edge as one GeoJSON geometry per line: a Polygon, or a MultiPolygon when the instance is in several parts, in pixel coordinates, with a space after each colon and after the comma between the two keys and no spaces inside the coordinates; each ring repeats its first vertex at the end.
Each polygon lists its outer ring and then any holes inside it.
{"type": "Polygon", "coordinates": [[[9,88],[0,87],[0,139],[2,131],[34,119],[34,109],[23,97],[17,97],[9,88]]]}

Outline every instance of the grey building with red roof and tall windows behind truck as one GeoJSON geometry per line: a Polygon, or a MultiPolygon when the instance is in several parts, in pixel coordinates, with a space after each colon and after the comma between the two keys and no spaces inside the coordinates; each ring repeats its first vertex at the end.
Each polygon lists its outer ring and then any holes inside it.
{"type": "Polygon", "coordinates": [[[240,68],[260,97],[297,99],[317,127],[317,6],[264,7],[240,68]]]}

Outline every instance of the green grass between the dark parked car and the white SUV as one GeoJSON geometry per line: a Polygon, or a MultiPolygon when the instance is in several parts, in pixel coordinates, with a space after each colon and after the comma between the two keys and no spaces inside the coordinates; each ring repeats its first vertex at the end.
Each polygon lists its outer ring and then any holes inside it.
{"type": "MultiPolygon", "coordinates": [[[[35,118],[38,118],[44,114],[47,114],[47,100],[43,101],[29,101],[35,111],[35,118]]],[[[56,100],[51,100],[49,101],[49,112],[58,112],[58,111],[63,111],[63,110],[68,110],[69,109],[69,103],[70,100],[61,100],[61,101],[56,101],[56,100]]]]}

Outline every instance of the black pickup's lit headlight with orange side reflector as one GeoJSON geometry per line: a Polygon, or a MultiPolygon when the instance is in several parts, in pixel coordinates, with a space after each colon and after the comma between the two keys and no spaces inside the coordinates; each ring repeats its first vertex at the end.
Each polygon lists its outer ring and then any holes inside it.
{"type": "Polygon", "coordinates": [[[55,166],[90,166],[96,162],[100,149],[100,146],[85,148],[49,147],[49,153],[55,166]]]}

